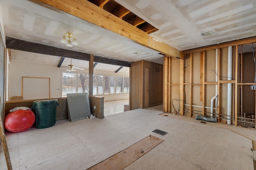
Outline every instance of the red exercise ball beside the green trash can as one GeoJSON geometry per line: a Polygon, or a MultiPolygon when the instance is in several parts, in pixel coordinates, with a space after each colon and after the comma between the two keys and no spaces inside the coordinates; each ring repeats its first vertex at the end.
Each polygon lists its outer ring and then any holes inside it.
{"type": "Polygon", "coordinates": [[[10,132],[22,132],[29,129],[35,122],[35,114],[30,109],[19,109],[10,112],[4,120],[5,128],[10,132]]]}

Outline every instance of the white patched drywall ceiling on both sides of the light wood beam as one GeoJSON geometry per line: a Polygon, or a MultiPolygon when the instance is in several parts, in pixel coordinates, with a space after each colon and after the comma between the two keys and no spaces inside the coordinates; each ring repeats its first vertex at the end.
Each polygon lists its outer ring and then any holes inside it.
{"type": "MultiPolygon", "coordinates": [[[[152,37],[180,51],[256,36],[256,0],[115,1],[158,28],[150,34],[152,37]],[[201,35],[211,30],[213,35],[201,35]]],[[[28,0],[0,3],[7,37],[123,61],[163,62],[157,51],[69,14],[28,0]],[[67,31],[76,36],[78,46],[70,48],[60,43],[67,31]]],[[[59,60],[52,62],[57,66],[59,60]]]]}

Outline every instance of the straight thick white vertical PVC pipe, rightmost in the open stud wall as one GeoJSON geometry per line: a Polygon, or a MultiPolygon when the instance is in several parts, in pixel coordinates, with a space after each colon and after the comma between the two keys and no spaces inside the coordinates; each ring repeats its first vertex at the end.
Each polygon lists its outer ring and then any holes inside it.
{"type": "MultiPolygon", "coordinates": [[[[232,80],[232,46],[228,47],[228,80],[232,80]]],[[[227,124],[231,124],[231,98],[232,98],[232,86],[228,83],[228,96],[227,96],[227,124]]]]}

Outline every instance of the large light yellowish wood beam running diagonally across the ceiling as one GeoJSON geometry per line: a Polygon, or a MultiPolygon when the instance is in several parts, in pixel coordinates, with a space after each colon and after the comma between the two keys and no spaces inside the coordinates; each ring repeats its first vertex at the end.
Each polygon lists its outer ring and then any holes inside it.
{"type": "MultiPolygon", "coordinates": [[[[114,33],[122,35],[128,39],[131,39],[135,43],[144,45],[151,49],[163,53],[167,56],[181,58],[181,52],[174,47],[158,40],[154,39],[148,33],[134,27],[126,21],[114,16],[113,14],[105,11],[102,8],[92,4],[88,0],[70,1],[70,0],[30,0],[31,2],[42,5],[51,10],[52,7],[62,12],[66,12],[82,20],[94,23],[100,27],[108,29],[114,33]],[[44,4],[40,4],[42,2],[44,4]],[[46,4],[46,5],[45,5],[46,4]],[[47,6],[48,5],[48,6],[47,6]],[[164,47],[160,47],[164,45],[164,47]]],[[[183,59],[183,58],[181,58],[183,59]]]]}

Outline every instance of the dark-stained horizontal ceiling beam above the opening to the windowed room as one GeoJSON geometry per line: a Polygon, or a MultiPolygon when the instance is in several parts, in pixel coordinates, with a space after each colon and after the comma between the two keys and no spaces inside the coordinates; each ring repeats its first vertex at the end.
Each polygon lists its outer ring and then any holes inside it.
{"type": "MultiPolygon", "coordinates": [[[[68,57],[72,59],[90,61],[90,54],[88,53],[60,49],[60,48],[56,48],[48,45],[32,43],[32,42],[23,41],[23,40],[11,38],[11,37],[6,37],[6,48],[20,50],[20,51],[27,51],[32,53],[39,53],[39,54],[45,54],[45,55],[53,55],[58,57],[68,57]]],[[[94,56],[94,61],[98,63],[112,64],[112,65],[118,65],[118,66],[126,66],[126,67],[131,66],[131,63],[128,61],[121,61],[117,59],[110,59],[107,57],[100,57],[100,56],[94,56]]]]}

